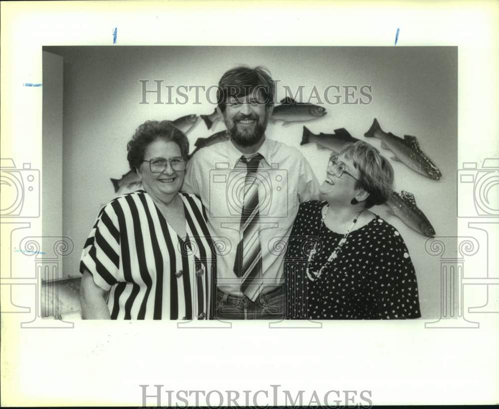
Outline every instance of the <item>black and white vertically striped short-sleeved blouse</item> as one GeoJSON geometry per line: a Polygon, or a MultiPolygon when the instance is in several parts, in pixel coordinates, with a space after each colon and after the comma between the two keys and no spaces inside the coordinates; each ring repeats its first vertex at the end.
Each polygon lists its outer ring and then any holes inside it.
{"type": "Polygon", "coordinates": [[[104,206],[85,242],[80,272],[109,292],[112,319],[213,318],[215,247],[199,196],[179,193],[187,237],[182,240],[151,196],[137,190],[104,206]]]}

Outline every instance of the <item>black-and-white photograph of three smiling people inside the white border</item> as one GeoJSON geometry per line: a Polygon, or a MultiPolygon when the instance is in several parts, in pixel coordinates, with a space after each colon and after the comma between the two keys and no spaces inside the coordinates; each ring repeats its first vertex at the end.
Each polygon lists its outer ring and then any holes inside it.
{"type": "Polygon", "coordinates": [[[43,83],[60,314],[439,317],[457,47],[44,47],[43,83]]]}

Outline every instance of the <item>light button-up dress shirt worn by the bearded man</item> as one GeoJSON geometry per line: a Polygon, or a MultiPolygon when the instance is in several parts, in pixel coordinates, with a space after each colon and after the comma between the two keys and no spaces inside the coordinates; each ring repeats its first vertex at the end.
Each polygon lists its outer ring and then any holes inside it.
{"type": "MultiPolygon", "coordinates": [[[[263,156],[257,172],[262,254],[259,293],[265,294],[284,282],[282,264],[298,207],[318,199],[319,184],[298,149],[265,138],[258,153],[263,156]]],[[[182,187],[184,192],[201,196],[207,210],[212,239],[219,248],[217,287],[237,296],[241,295],[242,279],[234,273],[234,262],[241,239],[247,172],[242,156],[231,140],[200,149],[189,161],[182,187]]]]}

